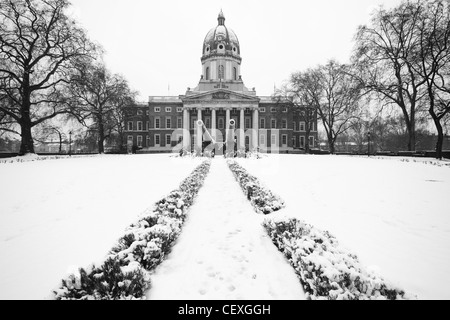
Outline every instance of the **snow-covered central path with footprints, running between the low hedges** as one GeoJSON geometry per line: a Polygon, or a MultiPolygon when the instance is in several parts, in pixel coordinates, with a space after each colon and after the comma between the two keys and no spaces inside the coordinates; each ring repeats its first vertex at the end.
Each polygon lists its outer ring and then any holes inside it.
{"type": "Polygon", "coordinates": [[[168,259],[152,276],[147,297],[305,299],[292,267],[261,226],[223,158],[205,184],[168,259]]]}

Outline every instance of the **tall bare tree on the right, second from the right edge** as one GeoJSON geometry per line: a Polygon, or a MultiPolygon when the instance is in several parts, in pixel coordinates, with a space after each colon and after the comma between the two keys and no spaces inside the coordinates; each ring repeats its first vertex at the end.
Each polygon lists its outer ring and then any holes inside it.
{"type": "Polygon", "coordinates": [[[356,35],[353,57],[358,80],[382,102],[401,109],[408,130],[408,150],[415,150],[416,113],[425,81],[414,71],[415,30],[420,6],[407,1],[372,16],[371,26],[361,26],[356,35]]]}

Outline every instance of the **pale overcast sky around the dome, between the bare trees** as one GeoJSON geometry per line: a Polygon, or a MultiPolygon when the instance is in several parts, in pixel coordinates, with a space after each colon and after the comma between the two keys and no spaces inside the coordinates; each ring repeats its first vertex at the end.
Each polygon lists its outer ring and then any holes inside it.
{"type": "Polygon", "coordinates": [[[71,0],[70,14],[106,51],[145,102],[197,86],[202,45],[223,10],[239,38],[241,74],[271,95],[294,71],[335,58],[348,62],[357,27],[374,8],[400,0],[71,0]],[[169,91],[170,86],[170,91],[169,91]]]}

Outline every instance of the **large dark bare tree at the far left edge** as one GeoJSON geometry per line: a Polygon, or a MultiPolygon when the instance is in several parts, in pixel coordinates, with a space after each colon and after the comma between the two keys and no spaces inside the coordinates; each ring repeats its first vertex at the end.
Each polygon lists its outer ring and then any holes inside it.
{"type": "Polygon", "coordinates": [[[67,0],[0,0],[0,111],[20,126],[20,154],[34,153],[32,128],[69,112],[65,89],[75,60],[95,46],[64,13],[67,0]]]}

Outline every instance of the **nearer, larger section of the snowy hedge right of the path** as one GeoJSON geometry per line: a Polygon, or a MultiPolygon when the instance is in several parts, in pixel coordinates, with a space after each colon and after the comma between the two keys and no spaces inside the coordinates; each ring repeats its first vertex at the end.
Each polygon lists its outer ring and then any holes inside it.
{"type": "Polygon", "coordinates": [[[294,267],[310,299],[407,299],[403,290],[363,268],[327,231],[295,218],[265,219],[273,243],[294,267]]]}

